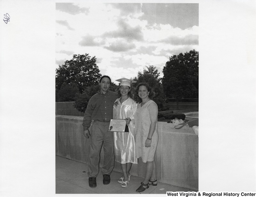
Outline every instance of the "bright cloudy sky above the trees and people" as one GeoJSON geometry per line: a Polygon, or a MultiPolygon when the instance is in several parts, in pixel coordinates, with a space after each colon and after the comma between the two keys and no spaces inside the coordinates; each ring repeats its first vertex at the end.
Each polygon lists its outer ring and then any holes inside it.
{"type": "Polygon", "coordinates": [[[198,4],[56,3],[56,68],[73,54],[96,57],[114,81],[172,55],[198,50],[198,4]]]}

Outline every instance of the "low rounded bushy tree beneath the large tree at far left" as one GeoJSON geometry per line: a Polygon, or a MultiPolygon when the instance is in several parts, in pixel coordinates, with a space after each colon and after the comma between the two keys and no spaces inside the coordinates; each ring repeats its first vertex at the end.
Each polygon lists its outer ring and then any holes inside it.
{"type": "Polygon", "coordinates": [[[57,102],[70,102],[75,100],[76,93],[79,93],[76,84],[63,83],[60,90],[57,93],[57,102]]]}

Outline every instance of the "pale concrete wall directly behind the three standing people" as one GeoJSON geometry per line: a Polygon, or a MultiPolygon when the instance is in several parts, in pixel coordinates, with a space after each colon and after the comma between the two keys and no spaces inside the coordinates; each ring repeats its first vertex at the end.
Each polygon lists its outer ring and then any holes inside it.
{"type": "MultiPolygon", "coordinates": [[[[56,155],[87,164],[89,139],[83,135],[82,121],[83,117],[56,115],[56,155]]],[[[103,161],[103,149],[100,158],[103,161]]],[[[178,130],[171,123],[158,122],[155,161],[159,182],[198,191],[198,137],[192,128],[178,130]]],[[[120,163],[115,162],[114,170],[122,172],[120,163]]],[[[130,173],[144,177],[145,170],[140,158],[130,173]]]]}

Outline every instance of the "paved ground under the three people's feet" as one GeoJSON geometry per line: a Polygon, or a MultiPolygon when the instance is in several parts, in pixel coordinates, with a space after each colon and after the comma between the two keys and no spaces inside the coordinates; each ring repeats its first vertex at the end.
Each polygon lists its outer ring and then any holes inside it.
{"type": "MultiPolygon", "coordinates": [[[[121,187],[117,180],[122,173],[113,171],[111,173],[111,182],[103,185],[103,177],[99,173],[97,177],[97,187],[91,188],[88,184],[87,165],[56,156],[56,193],[137,193],[136,189],[140,186],[143,178],[131,176],[131,181],[126,188],[121,187]]],[[[195,192],[188,188],[172,186],[158,182],[157,186],[150,185],[143,194],[165,194],[166,192],[195,192]]],[[[140,193],[137,193],[140,194],[140,193]]]]}

